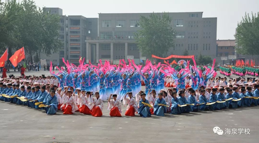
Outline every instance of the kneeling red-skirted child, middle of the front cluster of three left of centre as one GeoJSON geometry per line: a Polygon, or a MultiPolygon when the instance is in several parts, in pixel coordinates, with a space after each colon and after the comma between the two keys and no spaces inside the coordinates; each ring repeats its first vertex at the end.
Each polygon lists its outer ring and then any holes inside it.
{"type": "Polygon", "coordinates": [[[81,96],[78,96],[80,102],[79,112],[85,115],[92,114],[91,109],[93,108],[93,104],[91,104],[90,102],[88,103],[88,98],[91,99],[90,94],[91,92],[87,91],[86,94],[83,93],[81,96]]]}

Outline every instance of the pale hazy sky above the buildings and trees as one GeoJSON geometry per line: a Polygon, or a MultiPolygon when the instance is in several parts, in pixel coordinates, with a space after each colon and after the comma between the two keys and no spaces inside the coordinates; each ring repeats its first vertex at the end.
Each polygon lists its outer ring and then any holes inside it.
{"type": "Polygon", "coordinates": [[[259,0],[34,0],[39,7],[59,7],[63,15],[98,18],[98,13],[203,12],[217,17],[217,39],[234,39],[245,13],[257,13],[259,0]]]}

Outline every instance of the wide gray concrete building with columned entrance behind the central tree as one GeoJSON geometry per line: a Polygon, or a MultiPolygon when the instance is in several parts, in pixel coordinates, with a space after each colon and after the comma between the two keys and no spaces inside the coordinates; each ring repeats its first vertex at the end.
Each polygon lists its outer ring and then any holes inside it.
{"type": "MultiPolygon", "coordinates": [[[[217,18],[203,18],[202,14],[169,13],[176,34],[175,46],[167,55],[183,55],[186,49],[189,55],[195,55],[195,59],[199,54],[216,58],[217,18]]],[[[86,55],[87,61],[90,59],[95,63],[102,59],[115,63],[134,56],[135,62],[139,63],[143,57],[134,43],[134,32],[140,29],[136,22],[141,15],[148,17],[150,13],[99,13],[98,38],[85,40],[86,50],[91,53],[86,55]]]]}

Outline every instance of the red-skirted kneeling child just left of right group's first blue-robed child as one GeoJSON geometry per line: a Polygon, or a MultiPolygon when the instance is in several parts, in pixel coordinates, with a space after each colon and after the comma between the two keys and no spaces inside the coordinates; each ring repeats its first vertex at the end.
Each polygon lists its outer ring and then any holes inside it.
{"type": "Polygon", "coordinates": [[[132,92],[128,92],[125,94],[123,98],[123,105],[124,107],[128,105],[125,112],[126,116],[135,116],[135,112],[138,112],[138,108],[137,108],[138,105],[136,100],[132,97],[132,92]],[[129,97],[126,97],[127,95],[129,97]]]}

